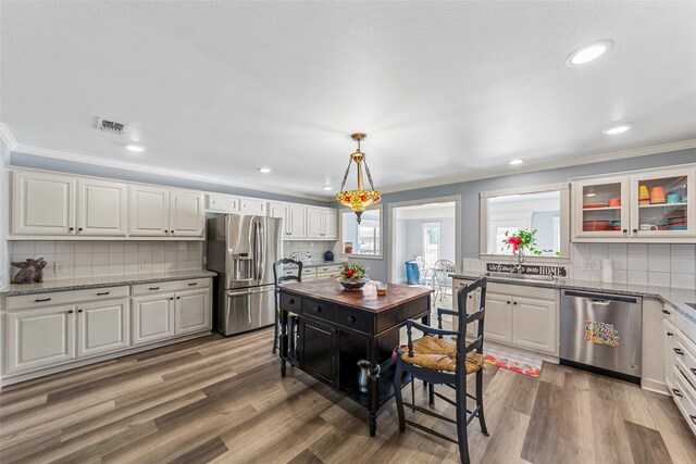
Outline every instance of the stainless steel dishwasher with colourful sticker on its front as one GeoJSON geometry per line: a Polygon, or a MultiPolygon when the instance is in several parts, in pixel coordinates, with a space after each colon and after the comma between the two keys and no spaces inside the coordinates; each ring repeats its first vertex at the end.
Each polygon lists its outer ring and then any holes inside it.
{"type": "Polygon", "coordinates": [[[641,297],[563,290],[561,364],[639,383],[642,346],[641,297]]]}

